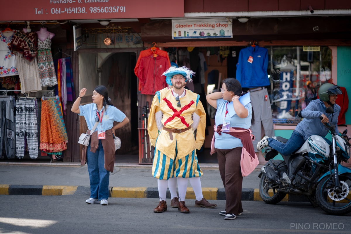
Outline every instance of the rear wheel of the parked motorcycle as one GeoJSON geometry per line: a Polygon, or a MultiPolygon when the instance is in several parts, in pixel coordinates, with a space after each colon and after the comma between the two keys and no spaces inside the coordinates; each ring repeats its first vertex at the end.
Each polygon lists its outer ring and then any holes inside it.
{"type": "Polygon", "coordinates": [[[259,190],[262,200],[268,204],[277,204],[285,198],[285,193],[278,192],[278,185],[272,183],[265,175],[261,176],[259,190]]]}

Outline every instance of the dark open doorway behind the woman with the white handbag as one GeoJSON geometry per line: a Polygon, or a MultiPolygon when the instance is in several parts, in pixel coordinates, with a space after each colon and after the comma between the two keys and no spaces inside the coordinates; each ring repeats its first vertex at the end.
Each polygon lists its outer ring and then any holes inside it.
{"type": "MultiPolygon", "coordinates": [[[[104,85],[113,105],[130,120],[115,131],[122,142],[116,163],[138,163],[138,126],[133,124],[138,121],[137,77],[133,72],[136,61],[134,52],[79,54],[79,90],[87,89],[81,104],[91,103],[93,89],[104,85]]],[[[80,117],[80,132],[86,129],[85,119],[80,117]]]]}

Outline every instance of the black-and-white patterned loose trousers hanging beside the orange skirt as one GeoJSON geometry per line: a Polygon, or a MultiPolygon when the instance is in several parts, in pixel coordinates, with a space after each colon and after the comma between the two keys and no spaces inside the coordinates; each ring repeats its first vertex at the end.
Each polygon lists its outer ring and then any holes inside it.
{"type": "Polygon", "coordinates": [[[16,102],[16,157],[22,159],[25,151],[25,136],[31,159],[38,158],[38,122],[35,100],[16,102]]]}

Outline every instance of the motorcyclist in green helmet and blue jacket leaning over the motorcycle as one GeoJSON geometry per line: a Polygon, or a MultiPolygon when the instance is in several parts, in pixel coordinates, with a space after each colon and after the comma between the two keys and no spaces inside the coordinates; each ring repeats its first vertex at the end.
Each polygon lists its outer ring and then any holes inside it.
{"type": "Polygon", "coordinates": [[[326,136],[328,132],[324,127],[324,123],[327,122],[335,125],[335,132],[339,134],[338,115],[340,113],[340,106],[335,103],[338,94],[342,94],[342,92],[337,85],[325,83],[320,86],[318,89],[319,99],[312,100],[301,112],[304,119],[296,126],[290,139],[286,143],[282,143],[265,136],[257,143],[257,149],[262,150],[269,146],[282,155],[290,155],[301,148],[309,136],[326,136]],[[333,107],[334,113],[327,114],[325,112],[327,107],[333,107]],[[320,116],[322,120],[319,119],[320,116]]]}

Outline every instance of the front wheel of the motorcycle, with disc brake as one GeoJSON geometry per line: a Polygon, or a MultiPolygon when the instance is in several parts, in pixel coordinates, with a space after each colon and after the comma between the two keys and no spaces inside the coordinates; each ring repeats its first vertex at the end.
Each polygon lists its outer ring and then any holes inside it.
{"type": "Polygon", "coordinates": [[[316,199],[317,202],[326,213],[332,215],[344,215],[351,212],[351,199],[349,191],[351,187],[351,174],[345,173],[339,175],[341,193],[335,193],[334,187],[331,187],[328,182],[331,177],[324,177],[317,185],[316,199]]]}

